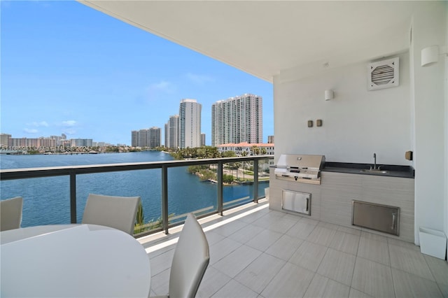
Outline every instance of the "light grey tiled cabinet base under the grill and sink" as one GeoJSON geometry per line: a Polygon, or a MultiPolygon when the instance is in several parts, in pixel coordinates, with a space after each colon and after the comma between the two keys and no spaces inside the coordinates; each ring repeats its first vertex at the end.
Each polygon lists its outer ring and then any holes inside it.
{"type": "Polygon", "coordinates": [[[273,172],[269,208],[295,214],[282,210],[282,190],[307,192],[311,194],[311,218],[414,243],[414,179],[323,171],[321,185],[311,185],[278,179],[273,172]],[[400,236],[352,226],[353,200],[399,207],[400,236]]]}

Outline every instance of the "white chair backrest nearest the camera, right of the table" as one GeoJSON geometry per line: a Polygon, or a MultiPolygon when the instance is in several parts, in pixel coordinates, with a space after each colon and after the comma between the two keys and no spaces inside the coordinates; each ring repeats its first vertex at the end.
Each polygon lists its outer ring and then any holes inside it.
{"type": "Polygon", "coordinates": [[[193,214],[188,214],[174,251],[169,297],[195,297],[209,265],[209,243],[193,214]]]}

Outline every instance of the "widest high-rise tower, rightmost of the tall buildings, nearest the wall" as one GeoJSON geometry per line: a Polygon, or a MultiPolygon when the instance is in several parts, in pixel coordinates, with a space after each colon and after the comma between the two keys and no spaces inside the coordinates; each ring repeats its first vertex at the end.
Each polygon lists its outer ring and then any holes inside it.
{"type": "Polygon", "coordinates": [[[211,106],[211,146],[262,142],[262,97],[243,94],[211,106]]]}

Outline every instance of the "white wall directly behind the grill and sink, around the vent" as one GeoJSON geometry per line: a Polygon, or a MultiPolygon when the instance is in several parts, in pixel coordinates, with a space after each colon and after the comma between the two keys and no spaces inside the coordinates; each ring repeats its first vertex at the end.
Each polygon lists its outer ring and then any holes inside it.
{"type": "Polygon", "coordinates": [[[412,150],[409,54],[400,57],[400,85],[367,90],[370,61],[322,71],[309,78],[274,81],[276,158],[280,154],[325,155],[330,162],[409,165],[412,150]],[[325,101],[324,91],[334,91],[325,101]],[[316,120],[323,120],[316,127],[316,120]],[[307,127],[313,120],[314,126],[307,127]]]}

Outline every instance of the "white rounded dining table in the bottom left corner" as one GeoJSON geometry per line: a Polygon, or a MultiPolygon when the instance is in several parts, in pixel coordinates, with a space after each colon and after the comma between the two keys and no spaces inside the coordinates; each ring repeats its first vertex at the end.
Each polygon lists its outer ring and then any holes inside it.
{"type": "Polygon", "coordinates": [[[0,232],[0,297],[148,297],[144,247],[118,229],[47,225],[0,232]]]}

